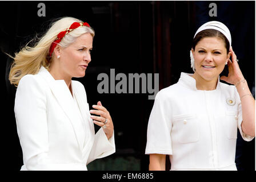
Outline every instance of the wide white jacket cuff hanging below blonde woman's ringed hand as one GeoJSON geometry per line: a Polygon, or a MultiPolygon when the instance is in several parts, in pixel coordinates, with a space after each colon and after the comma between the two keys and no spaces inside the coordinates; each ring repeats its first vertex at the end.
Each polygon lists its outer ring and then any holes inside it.
{"type": "Polygon", "coordinates": [[[108,140],[103,129],[95,134],[93,147],[91,148],[87,164],[95,159],[105,158],[115,152],[114,131],[112,137],[108,140]]]}

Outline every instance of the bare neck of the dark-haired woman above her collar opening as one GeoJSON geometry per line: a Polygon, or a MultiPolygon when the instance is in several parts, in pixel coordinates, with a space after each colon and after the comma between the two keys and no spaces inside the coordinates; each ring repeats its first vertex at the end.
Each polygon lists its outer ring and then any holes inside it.
{"type": "Polygon", "coordinates": [[[195,78],[197,90],[215,90],[218,83],[218,77],[211,80],[205,80],[195,72],[191,77],[195,78]]]}

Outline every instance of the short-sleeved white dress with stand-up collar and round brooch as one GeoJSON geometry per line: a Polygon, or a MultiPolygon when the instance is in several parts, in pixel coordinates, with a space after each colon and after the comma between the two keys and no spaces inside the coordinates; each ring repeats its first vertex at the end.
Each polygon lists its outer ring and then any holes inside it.
{"type": "Polygon", "coordinates": [[[237,170],[237,128],[244,140],[242,105],[234,85],[197,90],[188,73],[155,97],[145,154],[170,155],[171,170],[237,170]]]}

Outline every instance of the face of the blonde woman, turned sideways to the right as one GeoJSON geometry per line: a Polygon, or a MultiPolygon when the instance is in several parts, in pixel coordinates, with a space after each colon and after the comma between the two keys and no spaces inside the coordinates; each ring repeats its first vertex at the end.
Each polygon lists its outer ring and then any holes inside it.
{"type": "Polygon", "coordinates": [[[60,47],[59,66],[68,77],[83,77],[91,61],[90,51],[93,48],[93,36],[86,33],[75,39],[68,47],[60,47]]]}

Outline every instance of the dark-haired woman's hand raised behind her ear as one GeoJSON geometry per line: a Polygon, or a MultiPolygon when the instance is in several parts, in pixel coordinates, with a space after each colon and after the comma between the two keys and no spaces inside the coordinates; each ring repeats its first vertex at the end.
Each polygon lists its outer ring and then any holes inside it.
{"type": "Polygon", "coordinates": [[[229,84],[237,84],[237,82],[244,79],[243,74],[239,68],[239,65],[237,63],[237,56],[235,55],[235,52],[233,51],[232,47],[230,48],[231,51],[231,60],[228,61],[227,65],[229,67],[229,75],[222,76],[220,79],[223,81],[228,82],[229,84]]]}

